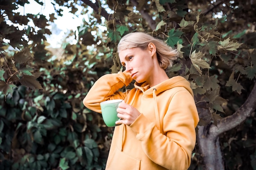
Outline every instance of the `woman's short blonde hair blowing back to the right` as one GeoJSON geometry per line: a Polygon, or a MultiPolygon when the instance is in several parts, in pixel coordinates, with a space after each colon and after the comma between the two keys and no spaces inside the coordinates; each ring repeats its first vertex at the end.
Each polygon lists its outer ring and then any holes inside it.
{"type": "Polygon", "coordinates": [[[175,60],[178,55],[177,50],[172,49],[164,41],[142,32],[128,33],[121,38],[117,46],[117,53],[119,53],[120,50],[132,49],[136,47],[146,50],[150,42],[155,44],[159,66],[164,70],[166,70],[168,66],[172,66],[173,60],[175,60]]]}

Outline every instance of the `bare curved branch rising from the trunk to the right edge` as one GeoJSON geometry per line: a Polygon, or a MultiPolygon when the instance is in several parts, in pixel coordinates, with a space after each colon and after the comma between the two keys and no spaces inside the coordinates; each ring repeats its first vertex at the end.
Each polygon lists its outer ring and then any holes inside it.
{"type": "Polygon", "coordinates": [[[235,128],[239,124],[241,124],[247,117],[252,115],[254,110],[256,109],[256,83],[249,95],[246,99],[245,103],[233,114],[224,119],[220,119],[218,121],[217,127],[211,126],[209,129],[209,134],[218,137],[218,135],[226,132],[232,128],[235,128]]]}

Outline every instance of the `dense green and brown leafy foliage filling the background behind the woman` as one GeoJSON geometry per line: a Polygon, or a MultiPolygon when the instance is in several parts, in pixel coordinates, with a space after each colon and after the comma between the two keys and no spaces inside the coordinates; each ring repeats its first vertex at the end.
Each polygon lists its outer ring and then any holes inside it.
{"type": "MultiPolygon", "coordinates": [[[[116,50],[127,33],[150,33],[180,51],[167,73],[191,82],[200,126],[218,126],[236,112],[256,78],[255,0],[53,1],[55,15],[61,15],[58,5],[94,10],[90,22],[67,35],[76,35],[77,44],[64,42],[57,51],[47,48],[45,38],[54,14],[49,21],[41,14],[23,16],[13,10],[27,0],[0,2],[0,168],[104,168],[112,129],[82,99],[109,68],[122,69],[116,50]]],[[[255,169],[254,124],[253,115],[220,136],[228,170],[255,169]]],[[[196,147],[191,170],[202,167],[201,156],[196,147]]]]}

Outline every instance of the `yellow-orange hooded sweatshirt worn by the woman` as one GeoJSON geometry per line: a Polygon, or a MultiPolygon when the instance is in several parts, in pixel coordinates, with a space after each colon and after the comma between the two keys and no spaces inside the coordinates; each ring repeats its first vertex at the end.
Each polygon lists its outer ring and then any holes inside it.
{"type": "Polygon", "coordinates": [[[100,77],[83,99],[83,104],[101,113],[100,102],[124,99],[141,113],[130,125],[116,126],[106,170],[187,170],[195,147],[199,117],[190,83],[181,76],[156,86],[132,82],[129,73],[100,77]]]}

